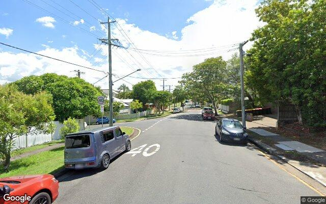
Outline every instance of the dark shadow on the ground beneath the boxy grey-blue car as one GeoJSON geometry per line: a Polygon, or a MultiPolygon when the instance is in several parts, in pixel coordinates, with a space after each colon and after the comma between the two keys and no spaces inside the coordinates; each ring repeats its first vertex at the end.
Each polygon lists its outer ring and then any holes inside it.
{"type": "MultiPolygon", "coordinates": [[[[110,161],[110,165],[115,162],[117,159],[119,159],[119,157],[121,157],[121,155],[123,155],[124,152],[122,152],[120,155],[118,155],[117,157],[115,157],[113,160],[110,161]]],[[[102,171],[110,171],[110,165],[108,166],[107,169],[101,169],[101,168],[89,168],[89,169],[80,169],[80,170],[69,170],[66,174],[69,174],[69,173],[73,173],[72,175],[69,175],[67,177],[64,177],[64,179],[61,179],[60,176],[58,178],[58,181],[59,182],[69,182],[69,181],[73,181],[73,180],[76,180],[76,179],[80,179],[80,178],[83,178],[83,177],[88,177],[88,176],[92,176],[92,175],[95,175],[97,173],[100,173],[102,171]]]]}

